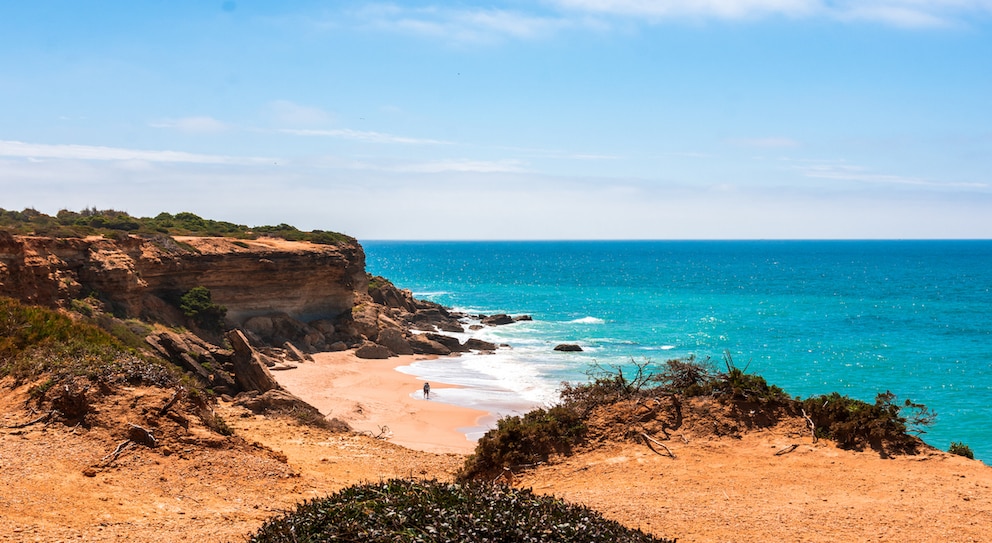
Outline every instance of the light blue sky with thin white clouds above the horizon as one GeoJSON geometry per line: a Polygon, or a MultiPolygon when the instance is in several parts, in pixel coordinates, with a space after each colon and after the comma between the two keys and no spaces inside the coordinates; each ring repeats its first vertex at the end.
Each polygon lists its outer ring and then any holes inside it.
{"type": "Polygon", "coordinates": [[[992,0],[0,6],[0,208],[992,238],[992,0]]]}

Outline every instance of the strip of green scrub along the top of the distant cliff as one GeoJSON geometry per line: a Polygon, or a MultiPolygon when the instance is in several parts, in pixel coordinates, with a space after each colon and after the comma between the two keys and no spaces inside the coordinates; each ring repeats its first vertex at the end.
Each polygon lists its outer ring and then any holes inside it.
{"type": "Polygon", "coordinates": [[[193,213],[159,213],[155,217],[132,217],[113,209],[61,210],[54,217],[34,209],[7,211],[0,208],[0,230],[11,234],[78,238],[93,235],[106,237],[131,234],[156,236],[209,236],[257,239],[262,236],[287,241],[309,241],[324,245],[353,243],[354,238],[337,232],[304,232],[288,224],[248,227],[225,221],[204,219],[193,213]]]}

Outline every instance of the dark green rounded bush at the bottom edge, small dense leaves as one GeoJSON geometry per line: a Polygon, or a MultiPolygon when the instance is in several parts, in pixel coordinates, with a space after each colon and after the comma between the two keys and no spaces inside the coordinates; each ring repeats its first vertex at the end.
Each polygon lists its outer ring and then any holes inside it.
{"type": "Polygon", "coordinates": [[[529,490],[396,479],[304,502],[249,541],[673,543],[529,490]]]}

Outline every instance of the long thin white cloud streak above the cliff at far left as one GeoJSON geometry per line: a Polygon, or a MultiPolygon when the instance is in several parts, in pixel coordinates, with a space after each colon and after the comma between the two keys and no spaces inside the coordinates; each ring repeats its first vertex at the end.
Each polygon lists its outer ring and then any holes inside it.
{"type": "Polygon", "coordinates": [[[27,159],[183,162],[193,164],[253,164],[267,163],[273,160],[263,157],[204,155],[183,151],[148,151],[96,145],[50,145],[4,140],[0,140],[0,156],[27,159]]]}

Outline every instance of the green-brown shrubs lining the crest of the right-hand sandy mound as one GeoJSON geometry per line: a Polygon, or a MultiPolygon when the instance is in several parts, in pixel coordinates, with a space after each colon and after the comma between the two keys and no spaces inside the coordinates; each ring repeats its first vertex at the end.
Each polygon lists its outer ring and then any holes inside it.
{"type": "MultiPolygon", "coordinates": [[[[594,365],[587,383],[563,383],[560,404],[550,410],[536,409],[520,416],[505,417],[486,432],[458,474],[460,480],[493,478],[505,469],[546,462],[552,454],[569,454],[587,435],[587,419],[604,406],[620,402],[657,398],[662,395],[710,397],[730,404],[758,403],[781,407],[782,413],[805,411],[816,427],[817,437],[833,439],[842,448],[862,450],[871,447],[882,453],[914,452],[920,441],[912,433],[922,433],[935,415],[926,406],[906,400],[894,403],[890,392],[879,394],[874,404],[838,393],[810,397],[789,397],[781,388],[769,385],[760,375],[738,368],[727,353],[726,372],[717,372],[709,361],[694,357],[669,360],[660,368],[650,362],[631,362],[623,367],[604,369],[594,365]]],[[[633,419],[631,419],[633,420],[633,419]]],[[[624,432],[623,435],[636,435],[624,432]]]]}

